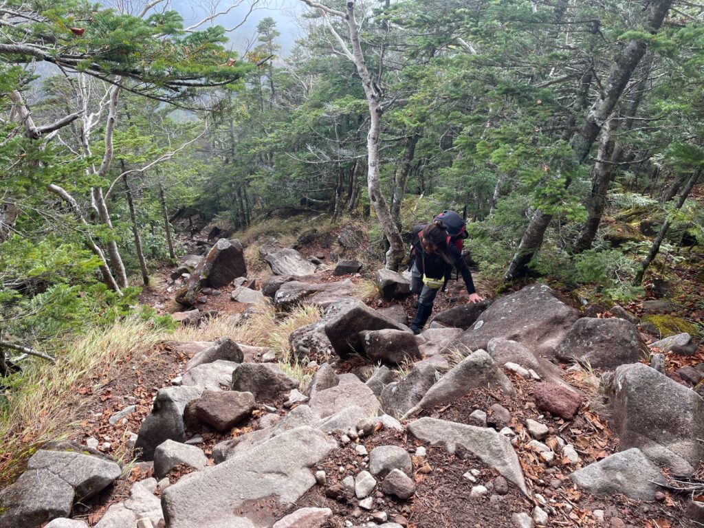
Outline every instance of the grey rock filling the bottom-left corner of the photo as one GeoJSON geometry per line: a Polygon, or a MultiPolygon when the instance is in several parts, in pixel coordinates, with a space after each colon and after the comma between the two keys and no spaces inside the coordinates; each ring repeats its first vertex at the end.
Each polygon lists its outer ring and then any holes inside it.
{"type": "Polygon", "coordinates": [[[0,528],[39,528],[56,517],[68,517],[74,491],[49,470],[28,470],[0,491],[0,528]]]}

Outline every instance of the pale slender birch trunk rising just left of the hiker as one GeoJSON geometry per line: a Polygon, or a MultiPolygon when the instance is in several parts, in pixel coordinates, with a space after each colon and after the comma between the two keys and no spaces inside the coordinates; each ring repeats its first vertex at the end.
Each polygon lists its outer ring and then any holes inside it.
{"type": "Polygon", "coordinates": [[[372,84],[372,77],[369,70],[367,70],[357,20],[354,15],[354,6],[354,1],[348,0],[346,2],[347,15],[345,21],[349,28],[352,42],[353,62],[362,80],[362,87],[364,88],[365,96],[367,96],[367,106],[370,114],[369,134],[367,134],[367,187],[372,207],[377,213],[377,218],[386,240],[389,241],[389,251],[386,251],[386,268],[396,271],[406,255],[406,248],[403,244],[403,239],[401,239],[401,231],[396,227],[394,218],[391,217],[389,206],[384,200],[379,182],[379,133],[381,132],[382,113],[384,110],[379,102],[381,94],[377,87],[372,84]]]}

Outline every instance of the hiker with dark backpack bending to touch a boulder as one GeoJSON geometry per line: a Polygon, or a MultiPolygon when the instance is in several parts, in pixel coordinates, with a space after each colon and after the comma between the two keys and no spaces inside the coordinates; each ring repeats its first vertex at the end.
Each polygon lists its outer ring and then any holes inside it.
{"type": "Polygon", "coordinates": [[[413,228],[410,291],[418,295],[418,308],[410,325],[419,334],[433,311],[433,301],[439,289],[445,289],[453,266],[465,281],[470,294],[468,303],[484,301],[477,294],[470,268],[462,256],[464,239],[467,238],[465,220],[454,211],[444,211],[433,222],[413,228]]]}

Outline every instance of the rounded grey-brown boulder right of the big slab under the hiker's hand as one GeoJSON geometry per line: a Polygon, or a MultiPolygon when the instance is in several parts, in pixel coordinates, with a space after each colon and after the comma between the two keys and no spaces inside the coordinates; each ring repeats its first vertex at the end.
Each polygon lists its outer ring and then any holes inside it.
{"type": "Polygon", "coordinates": [[[646,357],[638,329],[625,319],[582,318],[555,348],[560,360],[577,360],[593,368],[615,368],[646,357]]]}

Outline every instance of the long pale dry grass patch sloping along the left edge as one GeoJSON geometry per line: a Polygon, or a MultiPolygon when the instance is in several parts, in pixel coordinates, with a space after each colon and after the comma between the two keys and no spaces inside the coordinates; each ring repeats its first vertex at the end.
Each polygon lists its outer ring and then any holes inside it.
{"type": "Polygon", "coordinates": [[[78,390],[90,386],[103,365],[146,351],[165,337],[149,322],[127,318],[64,343],[56,365],[29,365],[17,387],[4,394],[0,409],[0,483],[12,479],[38,446],[68,436],[87,403],[78,390]]]}

